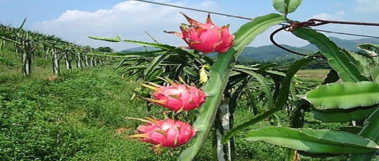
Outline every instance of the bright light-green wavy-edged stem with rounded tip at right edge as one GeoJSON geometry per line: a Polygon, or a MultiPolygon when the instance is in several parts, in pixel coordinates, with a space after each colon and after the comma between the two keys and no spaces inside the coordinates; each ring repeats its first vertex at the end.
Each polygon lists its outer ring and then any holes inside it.
{"type": "Polygon", "coordinates": [[[344,82],[321,85],[305,97],[318,110],[350,109],[379,103],[379,84],[374,82],[344,82]]]}

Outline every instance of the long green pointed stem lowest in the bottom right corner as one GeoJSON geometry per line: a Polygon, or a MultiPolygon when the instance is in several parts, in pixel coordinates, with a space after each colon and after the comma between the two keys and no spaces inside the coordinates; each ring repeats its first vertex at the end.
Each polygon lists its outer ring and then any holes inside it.
{"type": "Polygon", "coordinates": [[[375,142],[348,132],[289,127],[252,130],[246,140],[265,141],[310,153],[363,154],[379,148],[375,142]]]}

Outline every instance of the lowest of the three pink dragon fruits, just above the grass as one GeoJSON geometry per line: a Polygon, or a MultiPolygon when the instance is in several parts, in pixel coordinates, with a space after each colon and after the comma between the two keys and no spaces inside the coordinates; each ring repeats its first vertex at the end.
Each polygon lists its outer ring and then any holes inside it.
{"type": "Polygon", "coordinates": [[[160,153],[159,147],[177,147],[185,144],[196,134],[191,125],[168,118],[166,120],[159,120],[157,118],[145,117],[145,120],[128,117],[128,119],[147,122],[147,124],[137,127],[138,134],[129,137],[154,144],[156,153],[160,153]]]}

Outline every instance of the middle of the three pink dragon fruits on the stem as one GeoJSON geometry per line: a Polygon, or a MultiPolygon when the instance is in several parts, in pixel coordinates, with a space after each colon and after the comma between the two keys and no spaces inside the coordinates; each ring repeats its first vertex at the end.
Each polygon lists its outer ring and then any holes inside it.
{"type": "Polygon", "coordinates": [[[171,86],[164,87],[154,83],[149,83],[152,86],[143,84],[143,86],[155,91],[151,95],[156,100],[146,99],[172,111],[177,111],[176,113],[182,110],[193,110],[205,102],[206,95],[202,90],[186,84],[177,84],[171,79],[167,79],[167,81],[171,86]]]}

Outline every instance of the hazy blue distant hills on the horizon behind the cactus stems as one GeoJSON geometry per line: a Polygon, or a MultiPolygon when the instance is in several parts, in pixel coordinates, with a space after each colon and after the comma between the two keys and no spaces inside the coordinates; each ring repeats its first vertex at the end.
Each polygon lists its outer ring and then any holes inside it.
{"type": "MultiPolygon", "coordinates": [[[[364,44],[364,43],[371,43],[371,44],[379,44],[379,39],[375,38],[365,38],[365,39],[354,39],[354,40],[344,40],[339,39],[336,37],[329,37],[330,40],[334,41],[339,47],[352,50],[352,51],[358,51],[357,48],[358,44],[364,44]]],[[[289,45],[282,45],[283,47],[286,47],[290,50],[294,50],[300,53],[312,53],[317,50],[316,46],[312,44],[308,44],[303,47],[293,47],[289,45]]],[[[138,52],[138,51],[152,51],[152,50],[159,50],[158,48],[154,47],[136,47],[136,48],[130,48],[126,50],[122,50],[121,52],[138,52]]],[[[212,56],[214,54],[210,54],[212,56]]],[[[257,61],[273,61],[273,60],[283,60],[283,59],[289,59],[289,58],[299,58],[299,55],[292,54],[288,51],[282,50],[275,45],[266,45],[266,46],[260,46],[260,47],[246,47],[244,51],[242,51],[240,58],[243,59],[254,59],[257,61]]]]}

